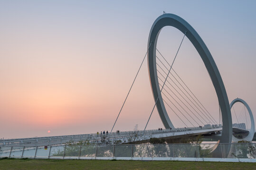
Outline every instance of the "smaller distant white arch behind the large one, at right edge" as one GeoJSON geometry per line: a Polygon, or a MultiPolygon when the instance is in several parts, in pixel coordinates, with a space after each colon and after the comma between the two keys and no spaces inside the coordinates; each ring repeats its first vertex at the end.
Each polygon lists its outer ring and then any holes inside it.
{"type": "Polygon", "coordinates": [[[254,118],[253,118],[253,114],[252,114],[252,110],[250,109],[249,105],[247,104],[247,102],[245,102],[243,99],[235,99],[233,100],[231,103],[230,103],[230,110],[232,108],[232,106],[236,103],[236,102],[241,102],[245,105],[245,107],[247,108],[248,112],[249,112],[249,115],[250,115],[250,119],[251,119],[251,129],[249,131],[249,135],[246,136],[245,138],[243,139],[238,139],[236,138],[235,136],[232,135],[232,142],[238,142],[238,141],[241,141],[241,140],[246,140],[246,141],[249,141],[251,142],[253,140],[253,136],[254,136],[254,133],[255,133],[255,125],[254,125],[254,118]]]}

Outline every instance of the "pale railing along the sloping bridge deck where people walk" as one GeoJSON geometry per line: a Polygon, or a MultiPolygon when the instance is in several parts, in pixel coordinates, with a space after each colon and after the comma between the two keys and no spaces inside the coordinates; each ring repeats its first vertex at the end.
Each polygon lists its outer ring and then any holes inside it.
{"type": "Polygon", "coordinates": [[[54,145],[54,144],[66,144],[70,141],[98,141],[102,137],[108,139],[118,139],[122,137],[133,137],[133,136],[147,136],[158,133],[170,133],[179,131],[190,131],[199,129],[211,129],[216,127],[187,127],[187,128],[174,128],[174,129],[152,129],[152,130],[137,130],[137,131],[123,131],[123,132],[112,132],[108,134],[84,134],[84,135],[69,135],[69,136],[50,136],[50,137],[33,137],[33,138],[20,138],[20,139],[7,139],[0,140],[0,146],[43,146],[43,145],[54,145]]]}

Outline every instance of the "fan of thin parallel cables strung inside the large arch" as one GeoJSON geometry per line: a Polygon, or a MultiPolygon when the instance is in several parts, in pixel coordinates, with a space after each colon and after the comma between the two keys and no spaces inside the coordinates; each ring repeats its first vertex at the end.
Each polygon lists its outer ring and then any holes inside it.
{"type": "Polygon", "coordinates": [[[187,125],[183,119],[187,120],[193,127],[203,126],[205,124],[218,124],[173,68],[168,75],[167,71],[170,69],[171,65],[163,57],[161,52],[158,49],[156,50],[162,58],[160,59],[160,56],[156,55],[159,86],[163,88],[161,94],[165,98],[165,104],[171,108],[176,116],[177,112],[180,114],[178,118],[185,126],[187,125]],[[165,78],[166,83],[163,87],[163,79],[165,78]]]}

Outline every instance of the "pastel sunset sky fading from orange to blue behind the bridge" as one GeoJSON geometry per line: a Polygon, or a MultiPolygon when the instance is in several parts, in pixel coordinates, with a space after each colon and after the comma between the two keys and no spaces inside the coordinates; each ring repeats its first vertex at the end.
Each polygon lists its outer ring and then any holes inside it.
{"type": "MultiPolygon", "coordinates": [[[[256,118],[255,7],[254,0],[0,0],[0,138],[110,131],[163,11],[198,32],[229,102],[242,98],[256,118]]],[[[159,35],[170,62],[182,37],[172,27],[159,35]]],[[[215,90],[187,38],[174,68],[218,120],[215,90]]],[[[144,129],[153,106],[145,60],[114,130],[144,129]]],[[[154,110],[147,129],[158,127],[154,110]]]]}

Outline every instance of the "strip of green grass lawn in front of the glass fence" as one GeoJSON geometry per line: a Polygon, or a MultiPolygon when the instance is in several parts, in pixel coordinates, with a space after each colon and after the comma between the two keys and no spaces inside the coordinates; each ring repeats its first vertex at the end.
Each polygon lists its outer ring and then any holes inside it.
{"type": "Polygon", "coordinates": [[[1,159],[0,170],[256,170],[256,163],[1,159]]]}

